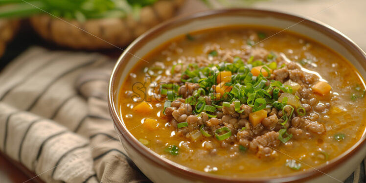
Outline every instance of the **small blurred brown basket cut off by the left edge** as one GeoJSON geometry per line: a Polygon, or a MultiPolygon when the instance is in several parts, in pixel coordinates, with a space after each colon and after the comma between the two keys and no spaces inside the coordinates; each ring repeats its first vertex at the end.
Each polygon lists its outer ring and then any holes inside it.
{"type": "Polygon", "coordinates": [[[13,39],[19,28],[18,20],[0,19],[0,57],[5,51],[6,44],[13,39]]]}

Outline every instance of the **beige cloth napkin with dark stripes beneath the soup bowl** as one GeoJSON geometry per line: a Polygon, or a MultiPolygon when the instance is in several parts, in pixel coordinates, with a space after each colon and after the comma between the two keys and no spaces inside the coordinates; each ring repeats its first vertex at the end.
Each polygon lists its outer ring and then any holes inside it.
{"type": "MultiPolygon", "coordinates": [[[[114,132],[114,60],[31,47],[0,72],[0,150],[46,183],[150,182],[114,132]]],[[[361,163],[346,183],[364,183],[361,163]]]]}

